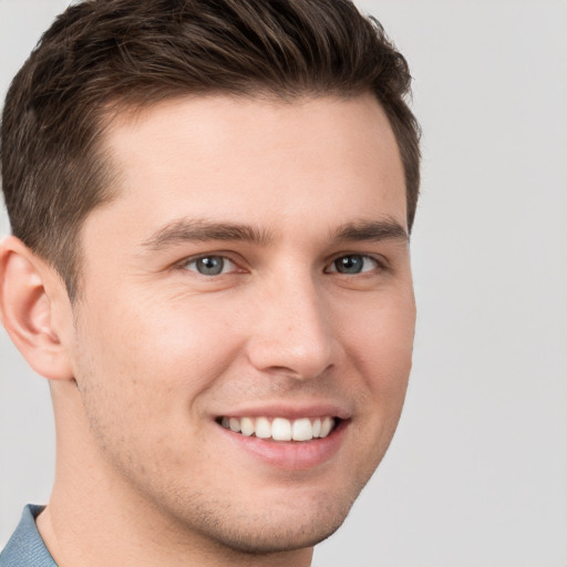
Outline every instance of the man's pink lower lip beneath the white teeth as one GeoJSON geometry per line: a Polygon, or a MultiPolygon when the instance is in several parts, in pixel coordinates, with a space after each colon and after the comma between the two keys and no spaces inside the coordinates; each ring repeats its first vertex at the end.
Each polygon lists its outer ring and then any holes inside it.
{"type": "Polygon", "coordinates": [[[299,442],[247,437],[221,425],[218,427],[225,439],[239,450],[271,466],[287,471],[306,471],[322,465],[337,454],[344,441],[348,424],[348,421],[341,421],[327,437],[299,442]]]}

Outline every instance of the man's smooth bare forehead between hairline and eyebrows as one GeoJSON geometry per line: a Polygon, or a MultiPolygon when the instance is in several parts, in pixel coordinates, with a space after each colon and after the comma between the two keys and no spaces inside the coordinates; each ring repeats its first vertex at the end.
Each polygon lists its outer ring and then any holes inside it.
{"type": "Polygon", "coordinates": [[[313,213],[339,223],[367,207],[405,227],[398,145],[370,94],[176,99],[125,113],[103,142],[118,179],[111,208],[131,221],[243,217],[276,229],[313,213]]]}

